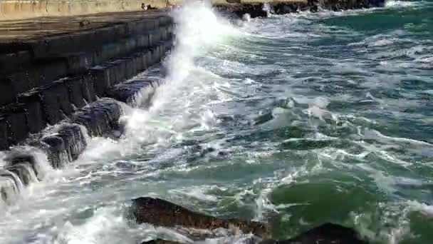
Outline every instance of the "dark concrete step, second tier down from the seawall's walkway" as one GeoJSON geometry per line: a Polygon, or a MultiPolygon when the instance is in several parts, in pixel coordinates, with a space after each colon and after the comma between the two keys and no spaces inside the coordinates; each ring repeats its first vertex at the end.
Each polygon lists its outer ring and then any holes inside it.
{"type": "MultiPolygon", "coordinates": [[[[0,106],[16,102],[17,95],[31,88],[46,86],[51,81],[64,76],[73,76],[84,73],[92,66],[96,66],[109,59],[127,56],[136,51],[157,45],[159,41],[172,39],[172,27],[161,26],[158,29],[144,34],[130,36],[98,46],[92,51],[78,53],[59,53],[56,56],[36,59],[22,64],[21,68],[14,68],[12,73],[8,70],[0,71],[0,106]]],[[[11,56],[16,60],[18,56],[11,56]]],[[[13,62],[12,62],[13,63],[13,62]]],[[[13,68],[13,67],[10,67],[13,68]]],[[[11,70],[9,70],[11,71],[11,70]]]]}

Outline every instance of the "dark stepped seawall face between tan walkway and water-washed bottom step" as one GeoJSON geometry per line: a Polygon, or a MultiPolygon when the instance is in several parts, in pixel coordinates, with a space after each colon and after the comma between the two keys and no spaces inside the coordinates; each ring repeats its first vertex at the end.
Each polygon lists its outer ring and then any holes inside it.
{"type": "Polygon", "coordinates": [[[0,39],[0,150],[68,118],[90,136],[113,126],[99,121],[104,114],[79,116],[80,108],[115,96],[113,86],[158,63],[173,35],[165,12],[115,21],[68,34],[0,39]]]}

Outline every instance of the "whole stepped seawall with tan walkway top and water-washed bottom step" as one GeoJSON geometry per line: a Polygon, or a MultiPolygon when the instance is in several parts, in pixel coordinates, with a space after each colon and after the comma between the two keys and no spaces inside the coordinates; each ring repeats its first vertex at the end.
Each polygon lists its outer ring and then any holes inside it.
{"type": "Polygon", "coordinates": [[[87,138],[121,129],[118,101],[133,103],[143,89],[152,96],[157,86],[127,80],[160,63],[172,48],[173,28],[167,11],[1,21],[4,202],[43,178],[37,151],[62,168],[78,158],[87,138]]]}

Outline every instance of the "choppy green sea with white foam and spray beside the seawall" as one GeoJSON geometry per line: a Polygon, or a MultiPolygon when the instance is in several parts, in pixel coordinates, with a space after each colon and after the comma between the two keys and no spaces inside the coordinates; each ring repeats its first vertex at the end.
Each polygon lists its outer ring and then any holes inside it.
{"type": "Polygon", "coordinates": [[[127,218],[143,195],[264,221],[273,238],[333,222],[375,243],[432,243],[433,1],[251,21],[204,4],[173,15],[152,106],[124,105],[120,140],[93,138],[2,207],[0,243],[179,238],[127,218]]]}

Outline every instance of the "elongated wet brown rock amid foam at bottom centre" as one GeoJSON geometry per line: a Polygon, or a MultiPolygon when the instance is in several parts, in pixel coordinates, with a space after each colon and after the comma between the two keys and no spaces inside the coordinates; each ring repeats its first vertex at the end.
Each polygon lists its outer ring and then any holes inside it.
{"type": "Polygon", "coordinates": [[[168,228],[182,226],[202,230],[239,228],[243,233],[253,233],[262,238],[269,235],[268,228],[263,223],[216,218],[202,213],[195,213],[187,208],[169,203],[167,200],[144,197],[134,199],[133,203],[137,223],[150,223],[168,228]]]}

